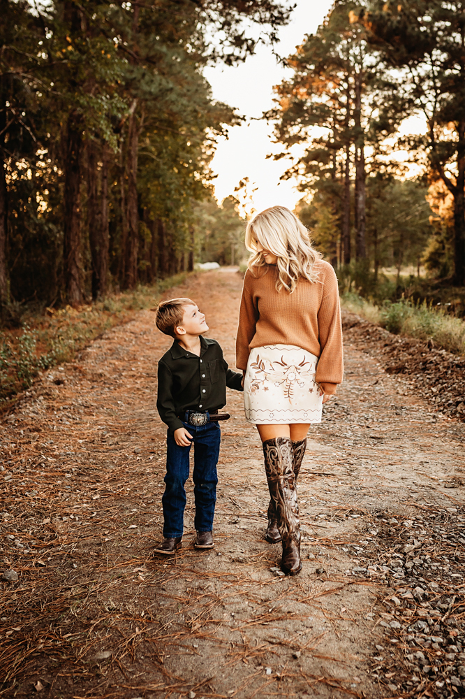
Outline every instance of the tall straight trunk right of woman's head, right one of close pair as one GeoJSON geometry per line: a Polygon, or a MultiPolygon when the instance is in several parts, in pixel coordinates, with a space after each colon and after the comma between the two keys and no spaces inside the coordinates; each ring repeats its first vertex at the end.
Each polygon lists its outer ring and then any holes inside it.
{"type": "Polygon", "coordinates": [[[355,256],[357,259],[367,257],[365,245],[366,227],[366,203],[367,194],[365,192],[365,153],[364,153],[364,133],[362,129],[362,75],[355,75],[355,108],[353,113],[355,126],[355,210],[357,219],[357,231],[355,238],[355,256]]]}

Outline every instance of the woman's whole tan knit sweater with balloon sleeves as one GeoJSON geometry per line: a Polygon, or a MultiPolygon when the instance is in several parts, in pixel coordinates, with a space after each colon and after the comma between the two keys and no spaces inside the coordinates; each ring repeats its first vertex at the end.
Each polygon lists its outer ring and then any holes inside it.
{"type": "Polygon", "coordinates": [[[344,373],[337,277],[332,266],[323,260],[316,262],[313,269],[319,273],[318,281],[300,279],[293,294],[285,289],[276,291],[276,266],[267,266],[265,272],[259,269],[257,276],[246,271],[236,366],[247,368],[253,347],[296,345],[320,358],[315,378],[325,384],[325,393],[332,394],[344,373]]]}

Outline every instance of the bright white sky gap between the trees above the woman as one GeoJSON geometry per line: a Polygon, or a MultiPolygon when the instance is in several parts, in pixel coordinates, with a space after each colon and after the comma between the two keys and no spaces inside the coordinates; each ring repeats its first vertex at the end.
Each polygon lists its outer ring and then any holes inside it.
{"type": "MultiPolygon", "coordinates": [[[[281,56],[293,53],[305,34],[316,31],[331,6],[332,0],[297,0],[290,24],[279,31],[281,41],[276,52],[281,56]]],[[[244,64],[205,70],[214,99],[236,107],[247,117],[244,124],[230,129],[228,140],[220,140],[212,160],[212,169],[218,175],[215,196],[219,201],[232,194],[239,180],[245,177],[258,187],[253,195],[253,205],[258,211],[276,204],[293,209],[302,196],[292,180],[279,182],[290,161],[267,159],[267,154],[281,150],[279,144],[272,143],[272,126],[253,120],[272,107],[273,86],[292,73],[276,62],[270,46],[263,45],[244,64]]]]}

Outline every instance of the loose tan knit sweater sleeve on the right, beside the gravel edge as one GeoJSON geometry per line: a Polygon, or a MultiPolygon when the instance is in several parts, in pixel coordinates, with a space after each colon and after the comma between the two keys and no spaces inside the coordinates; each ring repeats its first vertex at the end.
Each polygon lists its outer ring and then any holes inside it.
{"type": "Polygon", "coordinates": [[[344,362],[339,288],[334,269],[329,264],[325,267],[323,297],[318,310],[318,340],[321,354],[315,380],[318,383],[340,384],[344,375],[344,362]]]}

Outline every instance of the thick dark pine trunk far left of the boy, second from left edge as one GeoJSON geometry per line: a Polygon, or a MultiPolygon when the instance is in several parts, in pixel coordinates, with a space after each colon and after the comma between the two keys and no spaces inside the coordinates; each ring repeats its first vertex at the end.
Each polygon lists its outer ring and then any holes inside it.
{"type": "Polygon", "coordinates": [[[81,252],[81,117],[71,113],[66,124],[64,143],[64,244],[63,268],[66,300],[71,305],[82,302],[80,278],[81,252]]]}

